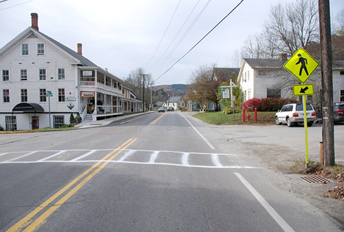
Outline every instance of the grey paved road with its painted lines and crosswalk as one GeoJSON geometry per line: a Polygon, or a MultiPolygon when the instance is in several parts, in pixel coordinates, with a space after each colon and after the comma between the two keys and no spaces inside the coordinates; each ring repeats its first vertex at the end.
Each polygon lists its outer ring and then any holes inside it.
{"type": "Polygon", "coordinates": [[[0,230],[341,231],[270,182],[259,131],[225,129],[168,112],[1,135],[0,230]]]}

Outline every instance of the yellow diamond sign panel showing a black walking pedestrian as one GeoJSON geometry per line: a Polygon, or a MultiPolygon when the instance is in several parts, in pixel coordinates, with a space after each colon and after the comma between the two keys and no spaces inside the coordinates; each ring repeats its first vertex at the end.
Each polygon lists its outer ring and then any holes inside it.
{"type": "Polygon", "coordinates": [[[318,61],[314,59],[306,50],[299,48],[297,52],[283,65],[291,72],[301,83],[305,83],[319,66],[318,61]]]}

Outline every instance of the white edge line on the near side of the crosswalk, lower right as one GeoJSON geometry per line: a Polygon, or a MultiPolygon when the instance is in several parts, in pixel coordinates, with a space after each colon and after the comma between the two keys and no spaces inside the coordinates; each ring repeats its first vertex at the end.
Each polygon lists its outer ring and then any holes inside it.
{"type": "Polygon", "coordinates": [[[241,182],[245,185],[245,187],[252,193],[253,196],[258,200],[258,202],[268,211],[268,213],[271,215],[271,217],[281,226],[283,231],[286,232],[295,232],[290,225],[283,220],[283,218],[275,211],[274,208],[270,206],[270,204],[255,190],[255,188],[252,187],[252,185],[243,177],[240,175],[240,173],[235,172],[235,175],[241,182]]]}

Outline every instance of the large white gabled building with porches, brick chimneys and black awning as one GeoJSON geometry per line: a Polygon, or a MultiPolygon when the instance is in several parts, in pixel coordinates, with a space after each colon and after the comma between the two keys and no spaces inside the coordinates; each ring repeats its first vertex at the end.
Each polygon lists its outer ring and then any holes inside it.
{"type": "Polygon", "coordinates": [[[123,81],[32,26],[0,50],[0,125],[6,130],[58,128],[71,114],[99,120],[142,111],[142,102],[123,89],[123,81]],[[130,104],[130,105],[129,105],[130,104]],[[128,107],[130,106],[130,108],[128,107]]]}

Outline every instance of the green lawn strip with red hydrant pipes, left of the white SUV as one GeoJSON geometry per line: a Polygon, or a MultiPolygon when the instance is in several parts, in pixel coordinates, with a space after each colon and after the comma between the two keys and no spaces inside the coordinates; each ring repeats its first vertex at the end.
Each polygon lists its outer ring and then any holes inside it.
{"type": "Polygon", "coordinates": [[[221,112],[205,112],[200,114],[193,114],[195,118],[198,118],[204,123],[214,125],[275,125],[276,112],[257,112],[257,121],[255,121],[255,112],[246,112],[245,122],[242,121],[242,113],[235,114],[222,114],[221,112]],[[250,120],[246,119],[247,114],[250,114],[250,120]]]}

